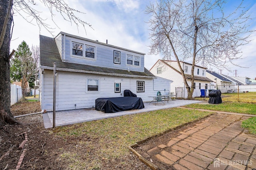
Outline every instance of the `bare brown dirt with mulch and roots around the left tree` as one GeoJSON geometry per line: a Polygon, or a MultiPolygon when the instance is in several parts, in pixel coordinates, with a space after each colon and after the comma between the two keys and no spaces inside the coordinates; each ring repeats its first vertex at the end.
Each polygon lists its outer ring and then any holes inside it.
{"type": "MultiPolygon", "coordinates": [[[[40,111],[39,102],[22,102],[12,106],[13,115],[22,115],[40,111]]],[[[95,161],[95,167],[88,169],[129,169],[129,170],[150,170],[148,166],[132,152],[127,152],[118,158],[106,159],[102,155],[97,155],[100,150],[98,139],[90,139],[86,136],[64,139],[54,134],[55,129],[45,129],[42,114],[30,115],[17,118],[18,121],[26,125],[6,125],[0,127],[0,169],[14,170],[18,165],[22,152],[26,149],[20,170],[64,170],[76,169],[70,166],[70,162],[75,162],[75,156],[71,158],[67,153],[77,153],[83,155],[84,162],[95,161]],[[23,133],[27,133],[28,141],[23,149],[19,149],[24,141],[23,133]],[[94,146],[80,147],[79,143],[92,141],[94,146]],[[5,155],[5,156],[3,156],[5,155]],[[100,162],[100,163],[98,163],[100,162]],[[98,168],[100,167],[100,168],[98,168]]],[[[72,165],[74,165],[73,163],[72,165]]]]}

